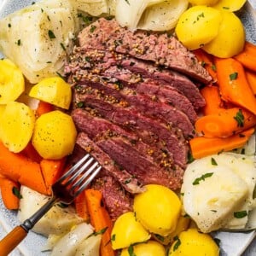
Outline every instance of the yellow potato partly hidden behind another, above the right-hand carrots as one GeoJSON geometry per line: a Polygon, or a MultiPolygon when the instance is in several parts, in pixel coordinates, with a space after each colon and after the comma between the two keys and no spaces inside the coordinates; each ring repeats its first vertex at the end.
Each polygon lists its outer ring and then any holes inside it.
{"type": "Polygon", "coordinates": [[[203,49],[220,58],[229,58],[241,52],[245,43],[245,32],[241,20],[235,14],[223,12],[218,36],[203,49]]]}

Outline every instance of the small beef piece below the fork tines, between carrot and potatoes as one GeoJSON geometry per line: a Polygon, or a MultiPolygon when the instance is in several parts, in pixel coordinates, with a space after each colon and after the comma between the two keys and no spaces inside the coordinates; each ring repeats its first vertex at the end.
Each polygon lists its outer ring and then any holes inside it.
{"type": "Polygon", "coordinates": [[[100,177],[92,183],[92,188],[102,192],[105,207],[110,218],[115,221],[121,214],[132,211],[132,199],[113,177],[100,177]]]}

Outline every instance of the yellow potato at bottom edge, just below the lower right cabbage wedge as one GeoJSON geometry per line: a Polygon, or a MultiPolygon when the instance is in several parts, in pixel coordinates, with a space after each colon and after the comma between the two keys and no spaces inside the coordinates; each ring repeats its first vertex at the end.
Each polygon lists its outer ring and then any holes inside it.
{"type": "Polygon", "coordinates": [[[211,236],[196,229],[183,231],[172,243],[169,256],[218,256],[219,248],[211,236]]]}

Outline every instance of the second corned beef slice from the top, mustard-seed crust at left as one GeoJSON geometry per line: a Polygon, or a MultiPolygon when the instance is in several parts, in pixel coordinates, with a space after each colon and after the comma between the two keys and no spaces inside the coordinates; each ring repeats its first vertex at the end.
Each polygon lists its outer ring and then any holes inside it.
{"type": "MultiPolygon", "coordinates": [[[[124,55],[102,50],[85,50],[77,47],[74,49],[71,61],[66,65],[65,71],[70,75],[70,83],[78,82],[79,79],[85,77],[95,79],[94,75],[100,75],[109,81],[119,79],[129,84],[137,84],[138,88],[142,83],[155,84],[160,87],[159,94],[161,90],[177,90],[183,95],[183,99],[181,99],[182,96],[177,98],[178,95],[173,99],[172,95],[168,97],[169,101],[172,99],[171,103],[174,107],[183,110],[185,106],[189,106],[189,102],[192,103],[195,109],[205,106],[205,100],[197,86],[184,75],[167,68],[155,67],[148,62],[131,57],[128,58],[124,55]],[[184,99],[184,96],[189,99],[189,102],[184,99]]],[[[166,91],[161,93],[161,96],[165,95],[165,93],[166,91]]],[[[173,94],[173,92],[170,93],[173,94]]],[[[190,107],[188,108],[189,112],[186,111],[185,113],[191,116],[192,120],[195,118],[195,113],[190,113],[193,110],[190,107]]]]}

